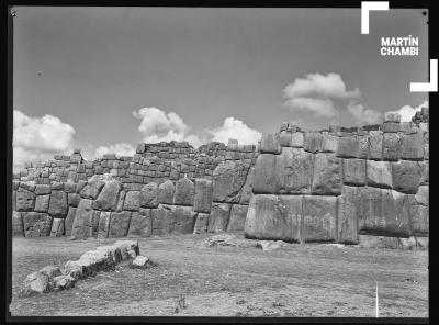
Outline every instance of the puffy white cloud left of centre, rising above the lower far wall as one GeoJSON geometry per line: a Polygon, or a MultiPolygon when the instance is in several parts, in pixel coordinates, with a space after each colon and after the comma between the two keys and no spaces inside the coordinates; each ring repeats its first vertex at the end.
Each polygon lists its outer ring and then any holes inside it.
{"type": "Polygon", "coordinates": [[[187,141],[196,146],[201,143],[194,134],[189,134],[189,127],[176,113],[167,113],[157,108],[143,108],[133,112],[134,117],[140,119],[138,131],[144,135],[144,142],[158,143],[170,141],[187,141]]]}

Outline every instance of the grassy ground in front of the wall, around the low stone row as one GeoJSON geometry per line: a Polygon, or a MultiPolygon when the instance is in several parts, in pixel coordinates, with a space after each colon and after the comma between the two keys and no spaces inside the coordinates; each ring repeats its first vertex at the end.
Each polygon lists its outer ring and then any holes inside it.
{"type": "Polygon", "coordinates": [[[427,251],[322,244],[263,251],[205,247],[206,237],[139,239],[140,254],[157,266],[121,266],[25,299],[16,293],[26,274],[115,239],[14,238],[11,314],[374,317],[378,281],[380,316],[428,316],[427,251]]]}

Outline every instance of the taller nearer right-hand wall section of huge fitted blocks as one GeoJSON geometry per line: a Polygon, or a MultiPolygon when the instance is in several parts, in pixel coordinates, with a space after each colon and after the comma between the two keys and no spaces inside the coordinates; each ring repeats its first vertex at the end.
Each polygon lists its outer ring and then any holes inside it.
{"type": "Polygon", "coordinates": [[[245,235],[349,244],[428,236],[428,124],[399,119],[386,114],[369,132],[283,123],[263,134],[245,235]]]}

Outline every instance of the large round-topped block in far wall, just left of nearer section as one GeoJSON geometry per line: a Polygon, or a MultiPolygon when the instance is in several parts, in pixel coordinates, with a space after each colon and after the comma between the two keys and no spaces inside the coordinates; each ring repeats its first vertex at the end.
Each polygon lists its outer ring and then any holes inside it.
{"type": "Polygon", "coordinates": [[[237,203],[246,182],[249,165],[238,160],[221,162],[213,171],[213,201],[237,203]]]}

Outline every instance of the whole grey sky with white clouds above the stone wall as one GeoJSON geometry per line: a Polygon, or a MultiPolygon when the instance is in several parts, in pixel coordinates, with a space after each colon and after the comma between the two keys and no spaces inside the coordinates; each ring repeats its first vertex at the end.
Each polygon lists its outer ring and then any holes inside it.
{"type": "Polygon", "coordinates": [[[305,130],[381,123],[428,105],[420,9],[15,7],[13,161],[142,142],[255,144],[283,121],[305,130]],[[381,37],[419,37],[384,57],[381,37]]]}

